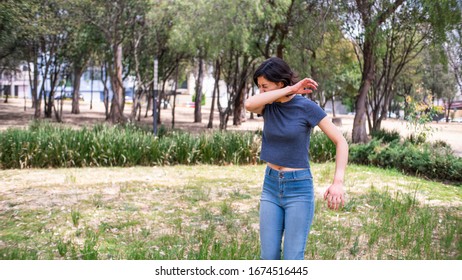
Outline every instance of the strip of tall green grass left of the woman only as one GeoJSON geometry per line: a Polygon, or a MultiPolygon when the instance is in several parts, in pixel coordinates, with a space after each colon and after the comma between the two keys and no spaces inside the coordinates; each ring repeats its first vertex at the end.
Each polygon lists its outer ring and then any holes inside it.
{"type": "Polygon", "coordinates": [[[75,130],[41,123],[0,133],[0,168],[256,163],[259,141],[251,132],[156,137],[134,125],[75,130]]]}

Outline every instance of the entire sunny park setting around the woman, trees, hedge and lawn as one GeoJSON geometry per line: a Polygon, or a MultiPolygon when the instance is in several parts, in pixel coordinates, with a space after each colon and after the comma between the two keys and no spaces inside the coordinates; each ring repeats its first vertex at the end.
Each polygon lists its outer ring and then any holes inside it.
{"type": "Polygon", "coordinates": [[[335,212],[335,147],[312,135],[306,258],[461,258],[460,2],[0,5],[2,259],[258,259],[243,103],[271,56],[350,143],[335,212]]]}

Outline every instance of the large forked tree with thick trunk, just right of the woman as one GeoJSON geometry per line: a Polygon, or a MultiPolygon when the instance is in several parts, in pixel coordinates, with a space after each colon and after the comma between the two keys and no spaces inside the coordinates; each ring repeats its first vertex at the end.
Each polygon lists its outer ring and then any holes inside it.
{"type": "MultiPolygon", "coordinates": [[[[392,92],[392,85],[404,65],[425,44],[443,41],[447,28],[460,22],[460,9],[454,0],[356,0],[354,4],[350,2],[348,7],[352,20],[347,21],[347,26],[351,27],[350,36],[356,39],[362,70],[352,132],[353,142],[358,143],[367,141],[366,104],[370,90],[375,86],[381,92],[376,92],[378,101],[375,103],[375,115],[386,115],[392,99],[386,93],[392,92]],[[441,17],[441,14],[445,16],[441,17]],[[388,41],[384,38],[388,38],[388,41]],[[382,51],[381,46],[388,51],[382,51]],[[402,53],[396,53],[396,50],[402,53]],[[379,76],[378,61],[382,61],[384,71],[379,76]]],[[[372,129],[380,127],[380,116],[375,120],[372,129]]]]}

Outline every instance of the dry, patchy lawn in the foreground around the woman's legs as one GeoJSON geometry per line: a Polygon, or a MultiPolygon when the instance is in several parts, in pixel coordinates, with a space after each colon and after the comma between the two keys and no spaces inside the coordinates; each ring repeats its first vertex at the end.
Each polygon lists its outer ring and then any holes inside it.
{"type": "MultiPolygon", "coordinates": [[[[334,164],[312,164],[317,197],[334,164]]],[[[263,165],[0,171],[0,259],[259,259],[263,165]],[[37,180],[40,178],[40,180],[37,180]]],[[[350,165],[307,259],[461,259],[462,190],[350,165]]]]}

